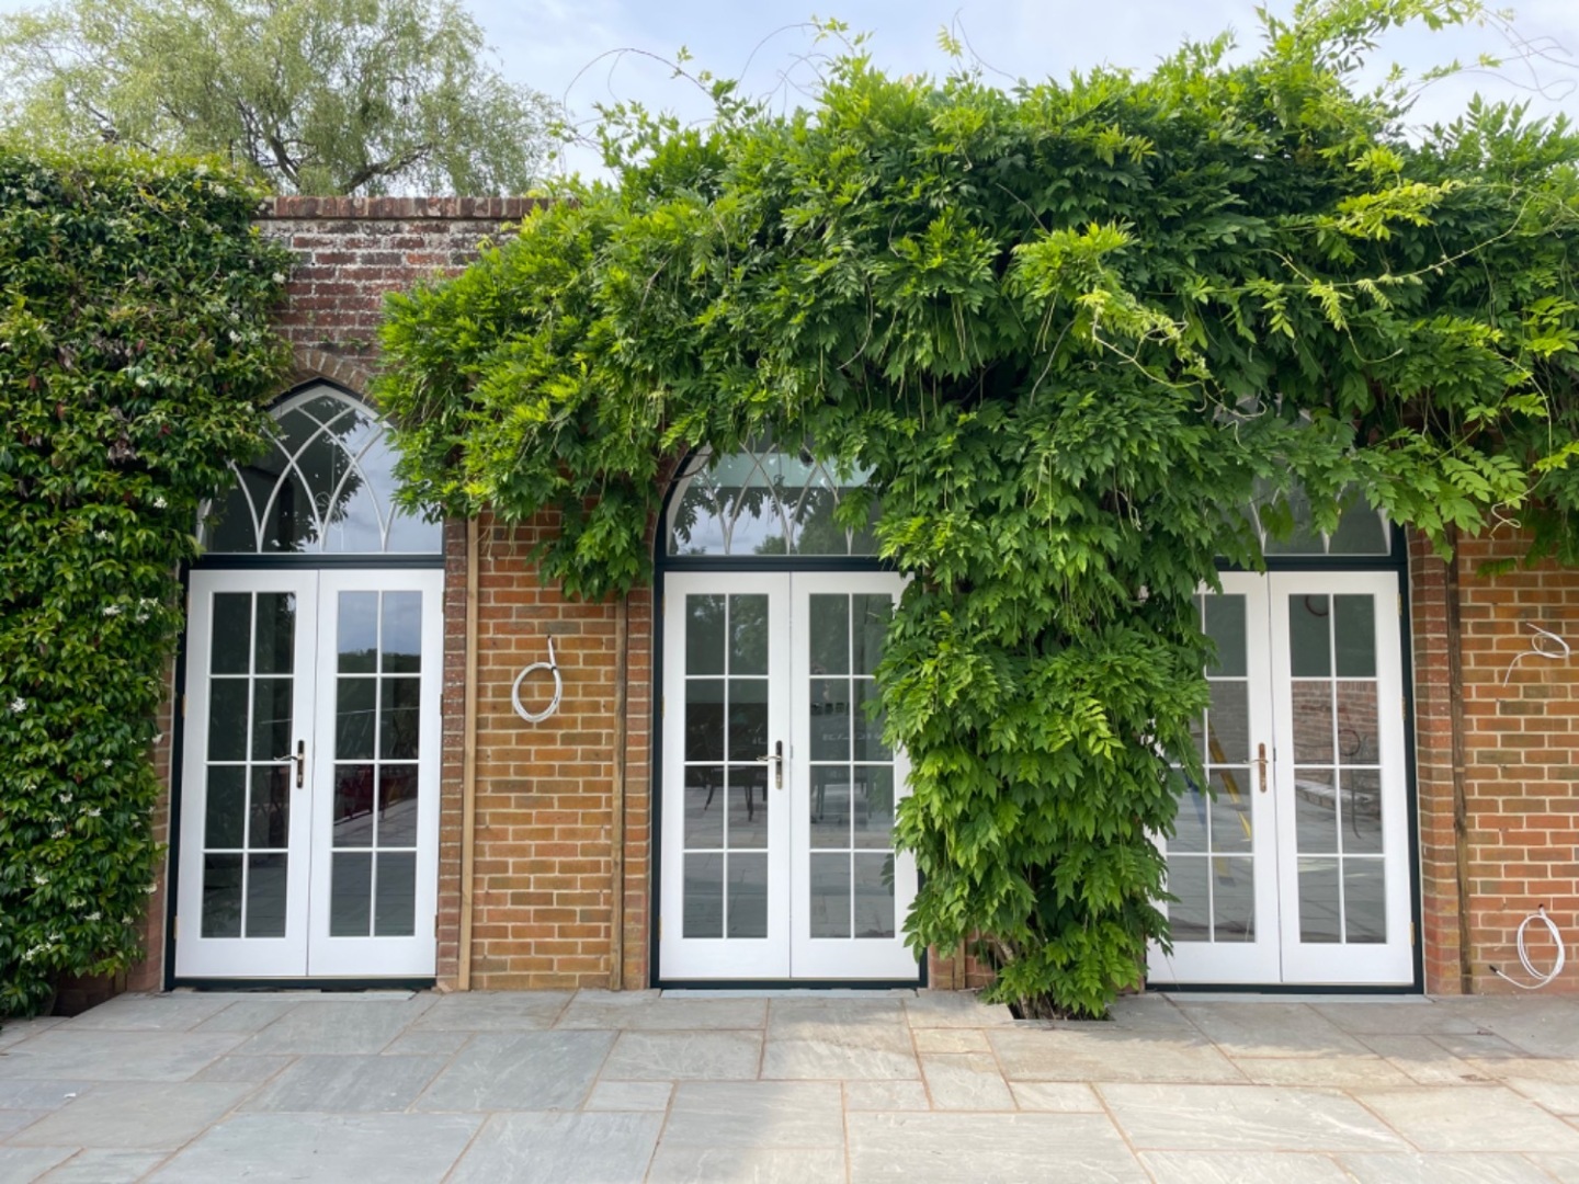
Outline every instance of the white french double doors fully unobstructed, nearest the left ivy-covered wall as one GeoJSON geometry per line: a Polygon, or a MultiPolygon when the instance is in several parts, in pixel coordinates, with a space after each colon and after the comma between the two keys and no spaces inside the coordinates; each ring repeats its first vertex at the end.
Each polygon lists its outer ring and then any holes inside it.
{"type": "Polygon", "coordinates": [[[193,571],[177,977],[428,977],[439,570],[193,571]]]}

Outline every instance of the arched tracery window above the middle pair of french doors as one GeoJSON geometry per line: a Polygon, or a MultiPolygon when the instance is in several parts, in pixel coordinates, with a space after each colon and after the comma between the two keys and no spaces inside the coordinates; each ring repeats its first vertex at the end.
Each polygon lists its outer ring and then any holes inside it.
{"type": "Polygon", "coordinates": [[[872,523],[850,529],[834,508],[867,483],[857,469],[845,477],[772,440],[747,451],[698,451],[669,497],[666,551],[671,556],[875,556],[872,523]]]}

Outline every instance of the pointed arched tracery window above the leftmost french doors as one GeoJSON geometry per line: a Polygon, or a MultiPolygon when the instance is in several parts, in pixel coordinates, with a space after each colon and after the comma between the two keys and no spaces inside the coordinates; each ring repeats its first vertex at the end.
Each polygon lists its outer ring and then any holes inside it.
{"type": "Polygon", "coordinates": [[[231,464],[235,485],[210,504],[210,554],[439,554],[442,527],[395,504],[395,448],[384,422],[328,384],[273,412],[268,450],[231,464]]]}

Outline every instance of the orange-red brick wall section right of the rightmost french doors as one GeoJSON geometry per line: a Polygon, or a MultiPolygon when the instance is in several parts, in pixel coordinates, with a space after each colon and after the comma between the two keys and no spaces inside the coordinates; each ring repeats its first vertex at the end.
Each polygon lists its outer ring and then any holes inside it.
{"type": "MultiPolygon", "coordinates": [[[[1579,641],[1579,571],[1543,564],[1495,578],[1480,573],[1487,562],[1519,559],[1524,545],[1511,534],[1467,540],[1457,559],[1475,993],[1513,990],[1491,966],[1524,977],[1514,933],[1538,905],[1570,944],[1579,939],[1579,658],[1528,657],[1513,666],[1532,649],[1530,625],[1579,641]]],[[[1420,543],[1412,560],[1426,987],[1457,991],[1446,568],[1420,543]]],[[[1532,936],[1540,938],[1530,942],[1536,965],[1549,966],[1544,930],[1532,928],[1532,936]]],[[[1579,966],[1546,990],[1579,993],[1579,966]]]]}

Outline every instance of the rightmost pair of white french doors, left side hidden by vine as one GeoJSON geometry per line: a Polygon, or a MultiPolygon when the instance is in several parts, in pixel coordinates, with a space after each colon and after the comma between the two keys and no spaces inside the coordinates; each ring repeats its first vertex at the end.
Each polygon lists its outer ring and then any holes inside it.
{"type": "Polygon", "coordinates": [[[1391,573],[1228,573],[1180,802],[1173,952],[1154,984],[1413,982],[1404,687],[1391,573]]]}

